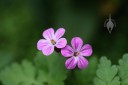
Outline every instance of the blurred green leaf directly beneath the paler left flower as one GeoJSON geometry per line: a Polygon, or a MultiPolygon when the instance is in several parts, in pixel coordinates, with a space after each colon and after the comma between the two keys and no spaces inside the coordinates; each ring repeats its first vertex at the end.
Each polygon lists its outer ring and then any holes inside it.
{"type": "Polygon", "coordinates": [[[53,53],[50,56],[44,56],[41,52],[36,57],[37,68],[41,68],[39,81],[48,85],[64,85],[67,69],[65,68],[63,58],[58,53],[53,53]]]}

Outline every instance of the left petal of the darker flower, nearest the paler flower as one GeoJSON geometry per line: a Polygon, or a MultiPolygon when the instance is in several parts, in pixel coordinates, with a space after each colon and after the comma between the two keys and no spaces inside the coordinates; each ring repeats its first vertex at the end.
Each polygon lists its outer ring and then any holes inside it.
{"type": "Polygon", "coordinates": [[[64,56],[64,57],[71,57],[73,56],[73,49],[67,45],[66,47],[64,47],[63,49],[61,49],[61,54],[64,56]]]}

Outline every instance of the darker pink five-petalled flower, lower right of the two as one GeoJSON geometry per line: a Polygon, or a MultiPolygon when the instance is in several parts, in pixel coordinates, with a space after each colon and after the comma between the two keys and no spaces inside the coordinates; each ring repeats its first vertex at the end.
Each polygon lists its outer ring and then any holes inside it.
{"type": "Polygon", "coordinates": [[[79,69],[86,68],[88,66],[88,60],[83,56],[91,56],[91,45],[83,45],[83,41],[80,37],[72,38],[71,45],[72,47],[67,45],[61,50],[61,54],[68,58],[65,62],[67,69],[74,69],[76,65],[79,69]]]}

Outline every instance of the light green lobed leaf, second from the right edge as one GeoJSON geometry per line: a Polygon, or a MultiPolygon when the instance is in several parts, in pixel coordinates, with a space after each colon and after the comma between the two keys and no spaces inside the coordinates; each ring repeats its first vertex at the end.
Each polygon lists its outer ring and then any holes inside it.
{"type": "Polygon", "coordinates": [[[111,61],[106,57],[100,59],[94,85],[120,85],[119,77],[116,76],[118,69],[111,65],[111,61]]]}

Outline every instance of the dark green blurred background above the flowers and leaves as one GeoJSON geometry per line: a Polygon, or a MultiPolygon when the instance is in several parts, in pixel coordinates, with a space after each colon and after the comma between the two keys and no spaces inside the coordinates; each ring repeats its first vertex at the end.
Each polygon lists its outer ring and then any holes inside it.
{"type": "Polygon", "coordinates": [[[93,46],[93,55],[117,60],[128,52],[127,0],[0,0],[0,69],[24,58],[33,60],[42,32],[66,29],[93,46]],[[111,13],[116,28],[109,34],[104,22],[111,13]]]}

